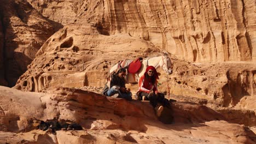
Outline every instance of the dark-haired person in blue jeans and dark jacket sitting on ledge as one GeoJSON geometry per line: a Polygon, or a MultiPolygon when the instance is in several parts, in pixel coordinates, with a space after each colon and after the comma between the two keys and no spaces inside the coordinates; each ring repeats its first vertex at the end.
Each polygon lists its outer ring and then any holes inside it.
{"type": "Polygon", "coordinates": [[[132,100],[130,88],[125,87],[126,69],[120,68],[117,73],[110,76],[110,82],[103,89],[103,94],[108,97],[132,100]]]}

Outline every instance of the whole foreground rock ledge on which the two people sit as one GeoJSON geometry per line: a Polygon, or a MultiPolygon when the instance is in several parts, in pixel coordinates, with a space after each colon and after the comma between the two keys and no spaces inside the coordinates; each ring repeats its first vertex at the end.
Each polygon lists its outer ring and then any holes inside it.
{"type": "MultiPolygon", "coordinates": [[[[248,128],[223,121],[206,106],[177,102],[173,124],[162,124],[149,103],[126,101],[80,89],[59,88],[49,93],[21,92],[0,86],[1,143],[254,143],[248,128]],[[36,130],[35,119],[76,122],[83,130],[36,130]]],[[[170,113],[171,112],[171,113],[170,113]]],[[[165,117],[166,118],[166,117],[165,117]]],[[[228,119],[227,119],[228,120],[228,119]]]]}

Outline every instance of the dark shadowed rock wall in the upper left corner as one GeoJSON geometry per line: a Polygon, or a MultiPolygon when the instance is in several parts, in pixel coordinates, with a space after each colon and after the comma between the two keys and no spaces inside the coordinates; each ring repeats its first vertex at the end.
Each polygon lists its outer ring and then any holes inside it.
{"type": "Polygon", "coordinates": [[[49,20],[28,2],[0,2],[0,85],[11,87],[54,31],[49,20]]]}

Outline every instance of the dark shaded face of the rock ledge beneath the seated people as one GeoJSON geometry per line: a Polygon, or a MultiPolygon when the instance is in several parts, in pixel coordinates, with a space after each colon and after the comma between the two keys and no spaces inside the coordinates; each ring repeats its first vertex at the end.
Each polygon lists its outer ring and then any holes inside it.
{"type": "Polygon", "coordinates": [[[62,104],[59,105],[60,109],[66,109],[60,111],[60,115],[70,115],[67,117],[73,117],[72,121],[86,129],[121,129],[143,132],[147,131],[146,124],[171,129],[166,124],[199,124],[224,119],[220,113],[206,106],[189,102],[172,102],[171,106],[165,107],[161,116],[157,118],[153,107],[145,101],[127,101],[63,87],[56,89],[54,93],[56,93],[54,100],[62,104]]]}

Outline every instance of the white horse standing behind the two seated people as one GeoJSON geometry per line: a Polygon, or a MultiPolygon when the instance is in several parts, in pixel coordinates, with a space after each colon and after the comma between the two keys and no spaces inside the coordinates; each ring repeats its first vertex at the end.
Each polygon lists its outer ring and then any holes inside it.
{"type": "MultiPolygon", "coordinates": [[[[132,62],[132,60],[128,59],[126,61],[129,61],[130,63],[132,62]]],[[[130,64],[128,63],[128,64],[130,64]]],[[[136,83],[139,80],[139,77],[141,77],[147,67],[149,65],[152,65],[153,67],[155,67],[156,69],[161,67],[162,69],[164,69],[166,71],[166,73],[168,75],[172,74],[172,63],[171,63],[171,59],[170,57],[168,57],[167,53],[162,53],[161,56],[158,57],[152,57],[149,59],[143,59],[142,63],[141,63],[141,69],[139,69],[139,71],[133,75],[133,74],[127,74],[126,77],[126,83],[136,83]]],[[[126,65],[124,65],[125,67],[126,65]]],[[[117,70],[119,67],[119,63],[115,64],[112,68],[110,68],[109,73],[112,74],[115,70],[117,70]]]]}

